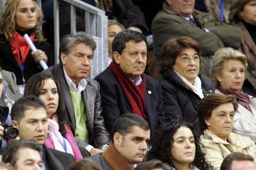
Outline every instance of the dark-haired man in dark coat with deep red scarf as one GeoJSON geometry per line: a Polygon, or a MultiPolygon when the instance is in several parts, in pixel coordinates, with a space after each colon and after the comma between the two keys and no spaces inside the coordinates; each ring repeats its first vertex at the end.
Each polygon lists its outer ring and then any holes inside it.
{"type": "Polygon", "coordinates": [[[125,113],[135,113],[150,124],[151,136],[165,120],[161,86],[143,72],[147,41],[137,31],[125,30],[114,37],[113,62],[96,76],[101,86],[103,116],[108,131],[125,113]]]}

